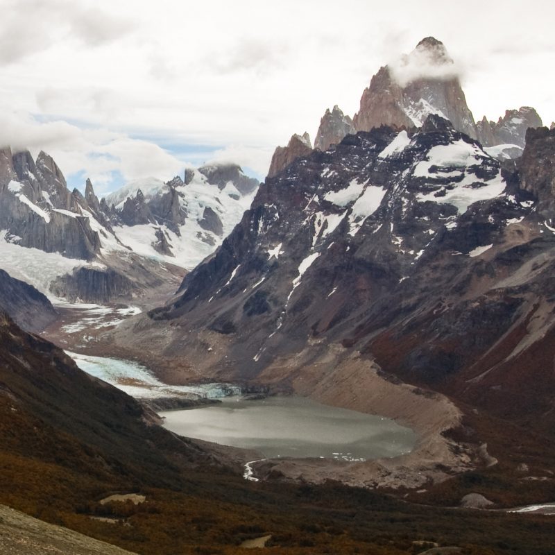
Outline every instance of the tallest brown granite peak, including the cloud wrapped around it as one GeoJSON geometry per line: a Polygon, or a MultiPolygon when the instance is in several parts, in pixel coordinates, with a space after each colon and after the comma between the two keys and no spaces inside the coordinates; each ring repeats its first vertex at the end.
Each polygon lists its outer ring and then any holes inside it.
{"type": "Polygon", "coordinates": [[[358,131],[382,125],[420,127],[429,114],[449,119],[456,130],[476,137],[472,112],[456,77],[453,60],[434,37],[420,41],[393,67],[382,67],[370,81],[353,122],[358,131]]]}

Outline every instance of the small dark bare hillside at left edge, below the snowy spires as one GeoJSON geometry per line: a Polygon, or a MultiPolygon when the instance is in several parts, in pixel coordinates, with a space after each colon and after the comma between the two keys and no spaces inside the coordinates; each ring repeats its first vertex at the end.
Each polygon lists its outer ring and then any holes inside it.
{"type": "Polygon", "coordinates": [[[0,270],[0,310],[29,332],[40,332],[58,312],[40,291],[0,270]]]}

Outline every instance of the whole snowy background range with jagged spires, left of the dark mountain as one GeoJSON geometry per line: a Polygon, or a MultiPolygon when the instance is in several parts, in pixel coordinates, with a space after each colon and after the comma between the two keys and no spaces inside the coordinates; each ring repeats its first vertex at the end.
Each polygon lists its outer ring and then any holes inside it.
{"type": "Polygon", "coordinates": [[[233,164],[188,169],[185,178],[130,182],[99,200],[90,180],[85,196],[70,192],[46,153],[35,162],[5,148],[0,266],[69,300],[132,298],[162,286],[221,244],[258,185],[233,164]]]}

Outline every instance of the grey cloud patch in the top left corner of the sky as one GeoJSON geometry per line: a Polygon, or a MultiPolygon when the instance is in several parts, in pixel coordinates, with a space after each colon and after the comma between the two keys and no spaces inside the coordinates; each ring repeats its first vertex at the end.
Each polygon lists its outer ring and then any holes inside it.
{"type": "Polygon", "coordinates": [[[70,0],[7,0],[0,20],[0,65],[40,53],[67,37],[85,46],[119,40],[137,27],[130,19],[70,0]]]}

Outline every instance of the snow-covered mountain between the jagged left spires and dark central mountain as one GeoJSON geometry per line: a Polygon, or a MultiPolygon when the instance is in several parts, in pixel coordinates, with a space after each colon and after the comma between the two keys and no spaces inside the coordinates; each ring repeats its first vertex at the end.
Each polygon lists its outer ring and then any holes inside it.
{"type": "Polygon", "coordinates": [[[239,222],[258,182],[233,164],[189,170],[185,178],[130,182],[103,203],[122,244],[191,270],[239,222]]]}

